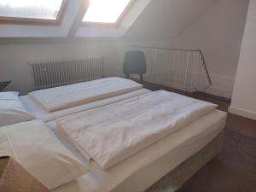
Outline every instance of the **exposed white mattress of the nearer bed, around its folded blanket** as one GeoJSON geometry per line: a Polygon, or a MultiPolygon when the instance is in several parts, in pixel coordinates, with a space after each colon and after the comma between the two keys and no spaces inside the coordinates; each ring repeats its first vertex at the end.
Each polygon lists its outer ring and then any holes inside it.
{"type": "Polygon", "coordinates": [[[204,148],[224,129],[226,113],[215,110],[182,130],[174,132],[107,171],[101,171],[82,159],[79,152],[58,134],[55,122],[47,125],[67,148],[84,161],[90,173],[66,183],[54,192],[139,192],[148,189],[166,173],[204,148]]]}

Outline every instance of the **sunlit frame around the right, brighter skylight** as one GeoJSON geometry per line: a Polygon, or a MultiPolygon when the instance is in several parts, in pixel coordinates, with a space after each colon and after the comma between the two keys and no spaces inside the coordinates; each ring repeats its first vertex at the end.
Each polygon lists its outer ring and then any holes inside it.
{"type": "MultiPolygon", "coordinates": [[[[131,0],[127,6],[125,7],[125,9],[123,10],[122,14],[119,15],[118,20],[116,20],[115,23],[104,23],[104,22],[90,22],[90,21],[83,21],[82,20],[82,24],[81,26],[88,26],[88,27],[117,27],[120,25],[121,21],[124,20],[125,15],[127,15],[128,11],[131,9],[132,4],[135,2],[136,0],[131,0]]],[[[87,8],[89,9],[89,7],[87,8]]],[[[86,11],[87,11],[86,9],[86,11]]],[[[84,15],[86,14],[86,11],[84,12],[84,15]]],[[[84,19],[84,17],[83,17],[84,19]]]]}

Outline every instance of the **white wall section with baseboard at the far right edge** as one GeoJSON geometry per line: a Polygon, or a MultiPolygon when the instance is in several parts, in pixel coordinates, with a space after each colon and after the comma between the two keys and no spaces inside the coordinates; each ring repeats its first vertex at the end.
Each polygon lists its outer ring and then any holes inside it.
{"type": "Polygon", "coordinates": [[[231,113],[256,119],[256,0],[250,0],[231,113]]]}

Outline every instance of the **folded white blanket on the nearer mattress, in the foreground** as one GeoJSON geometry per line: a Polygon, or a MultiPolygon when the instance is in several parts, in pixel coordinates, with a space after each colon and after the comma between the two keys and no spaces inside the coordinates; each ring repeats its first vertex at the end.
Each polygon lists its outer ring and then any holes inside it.
{"type": "Polygon", "coordinates": [[[164,90],[56,120],[88,160],[108,169],[217,106],[164,90]]]}

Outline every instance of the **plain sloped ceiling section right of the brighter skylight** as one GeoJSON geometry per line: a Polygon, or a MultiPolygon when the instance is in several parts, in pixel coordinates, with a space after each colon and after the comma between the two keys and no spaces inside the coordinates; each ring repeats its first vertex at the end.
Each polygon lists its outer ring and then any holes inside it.
{"type": "Polygon", "coordinates": [[[142,41],[172,39],[192,26],[221,0],[151,0],[125,32],[124,38],[142,41]]]}

